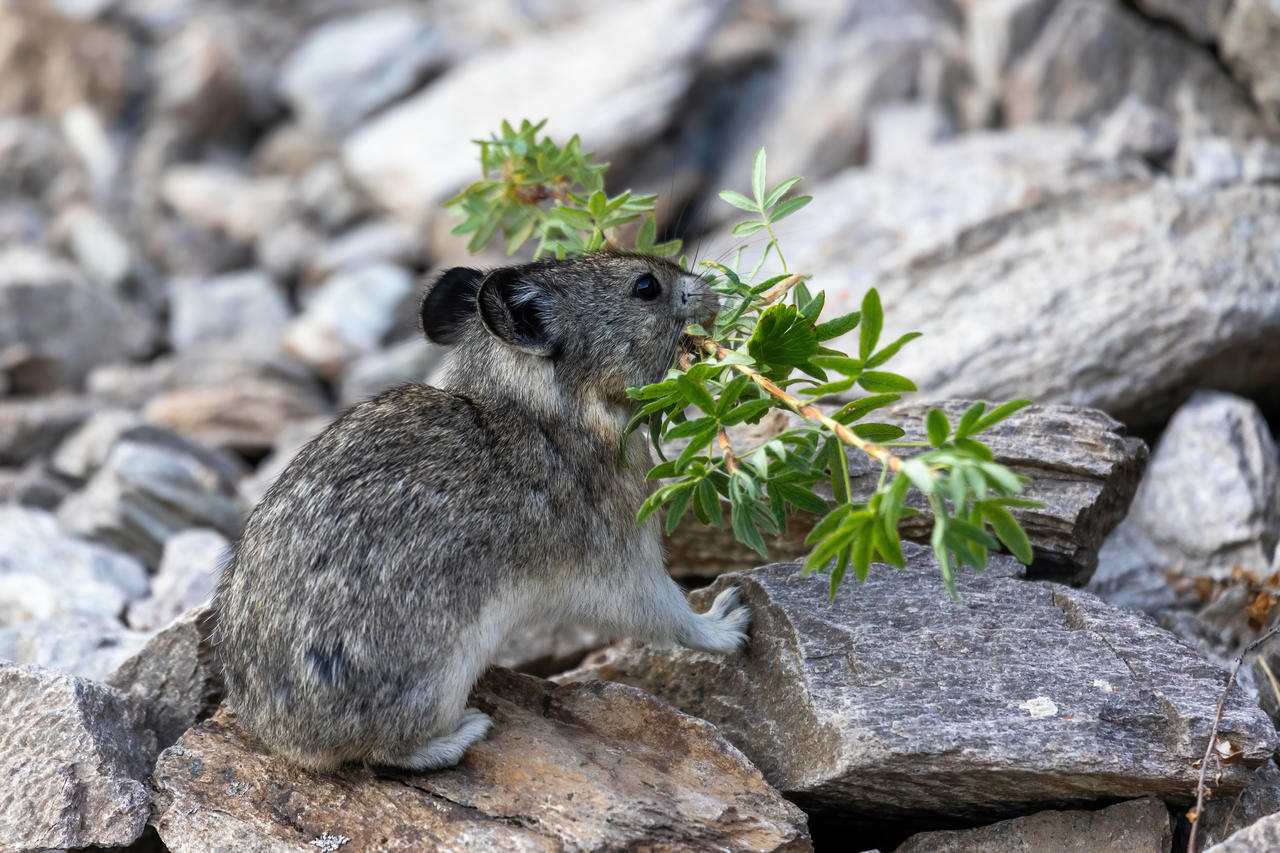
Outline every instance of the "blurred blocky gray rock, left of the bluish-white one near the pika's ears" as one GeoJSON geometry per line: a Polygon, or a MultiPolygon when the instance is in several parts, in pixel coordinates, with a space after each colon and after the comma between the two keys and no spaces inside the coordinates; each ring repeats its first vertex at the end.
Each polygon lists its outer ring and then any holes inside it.
{"type": "Polygon", "coordinates": [[[248,352],[271,353],[291,314],[280,286],[260,270],[174,282],[169,304],[169,341],[175,350],[234,342],[248,352]]]}

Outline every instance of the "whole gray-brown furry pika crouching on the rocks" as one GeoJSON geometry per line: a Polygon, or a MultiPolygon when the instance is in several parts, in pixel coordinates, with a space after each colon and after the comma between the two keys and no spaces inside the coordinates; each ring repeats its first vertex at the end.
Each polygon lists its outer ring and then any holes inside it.
{"type": "Polygon", "coordinates": [[[622,444],[626,388],[660,380],[717,309],[704,279],[617,252],[435,279],[421,321],[451,347],[440,387],[317,435],[221,575],[215,649],[242,725],[307,768],[433,770],[488,733],[467,695],[521,625],[742,648],[737,589],[694,612],[657,517],[636,524],[652,457],[640,434],[622,444]]]}

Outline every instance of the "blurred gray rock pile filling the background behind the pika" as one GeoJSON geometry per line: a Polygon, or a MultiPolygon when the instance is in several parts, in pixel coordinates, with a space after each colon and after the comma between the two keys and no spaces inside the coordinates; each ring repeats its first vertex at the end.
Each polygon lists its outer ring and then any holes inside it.
{"type": "Polygon", "coordinates": [[[765,145],[815,196],[791,268],[925,332],[922,396],[1158,439],[1094,592],[1219,661],[1272,622],[1274,0],[5,0],[0,658],[118,672],[311,435],[430,375],[422,275],[502,263],[440,202],[520,118],[695,259],[765,145]]]}

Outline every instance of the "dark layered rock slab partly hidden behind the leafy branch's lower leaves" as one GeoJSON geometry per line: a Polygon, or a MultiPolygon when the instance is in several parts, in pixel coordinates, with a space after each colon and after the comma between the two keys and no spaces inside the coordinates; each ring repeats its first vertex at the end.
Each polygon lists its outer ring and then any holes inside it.
{"type": "MultiPolygon", "coordinates": [[[[924,415],[941,409],[955,425],[969,401],[910,401],[872,412],[867,420],[906,430],[901,441],[925,441],[924,415]]],[[[1014,510],[1036,551],[1030,576],[1084,583],[1098,565],[1107,533],[1124,517],[1147,464],[1147,446],[1125,434],[1106,412],[1074,406],[1029,406],[978,437],[996,461],[1032,478],[1025,496],[1042,502],[1038,510],[1014,510]]],[[[754,446],[759,442],[744,442],[754,446]]],[[[901,456],[916,450],[895,448],[901,456]]],[[[879,465],[850,453],[855,494],[869,496],[879,479],[879,465]]],[[[909,505],[920,515],[902,519],[901,534],[927,542],[933,526],[928,503],[910,493],[909,505]]],[[[769,540],[769,556],[799,560],[809,553],[804,539],[817,516],[799,514],[787,533],[769,540]]],[[[739,543],[732,532],[708,528],[687,516],[667,539],[672,574],[717,575],[756,566],[759,555],[739,543]]]]}

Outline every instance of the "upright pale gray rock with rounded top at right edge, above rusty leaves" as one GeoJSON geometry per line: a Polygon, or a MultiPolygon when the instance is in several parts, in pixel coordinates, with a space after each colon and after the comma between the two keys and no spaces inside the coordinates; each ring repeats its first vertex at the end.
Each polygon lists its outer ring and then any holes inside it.
{"type": "Polygon", "coordinates": [[[1157,612],[1175,578],[1270,574],[1280,542],[1280,452],[1248,400],[1198,393],[1160,438],[1129,515],[1107,538],[1089,589],[1157,612]]]}

